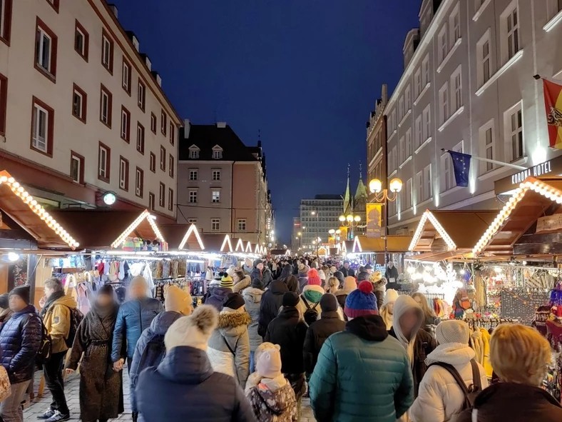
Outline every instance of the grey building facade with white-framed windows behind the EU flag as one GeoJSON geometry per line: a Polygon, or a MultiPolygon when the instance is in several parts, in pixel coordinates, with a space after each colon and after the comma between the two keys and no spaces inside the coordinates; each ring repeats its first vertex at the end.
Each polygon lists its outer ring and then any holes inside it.
{"type": "Polygon", "coordinates": [[[503,205],[494,181],[516,169],[472,159],[469,187],[456,186],[442,149],[522,168],[559,155],[548,148],[542,83],[533,75],[562,79],[561,1],[424,0],[419,19],[384,111],[387,181],[403,182],[389,204],[390,233],[412,231],[425,209],[503,205]]]}

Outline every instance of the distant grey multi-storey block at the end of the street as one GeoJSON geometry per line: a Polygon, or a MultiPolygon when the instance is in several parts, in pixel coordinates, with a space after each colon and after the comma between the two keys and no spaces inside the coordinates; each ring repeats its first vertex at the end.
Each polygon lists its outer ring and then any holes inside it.
{"type": "Polygon", "coordinates": [[[314,199],[300,201],[300,245],[303,250],[315,251],[316,243],[327,243],[328,232],[339,228],[338,218],[342,215],[343,204],[339,195],[316,195],[314,199]]]}

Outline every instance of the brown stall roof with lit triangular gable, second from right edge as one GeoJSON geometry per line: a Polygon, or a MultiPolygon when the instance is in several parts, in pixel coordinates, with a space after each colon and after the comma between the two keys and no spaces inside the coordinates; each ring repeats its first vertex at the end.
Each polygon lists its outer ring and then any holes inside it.
{"type": "Polygon", "coordinates": [[[429,211],[419,221],[409,251],[470,251],[496,211],[429,211]]]}

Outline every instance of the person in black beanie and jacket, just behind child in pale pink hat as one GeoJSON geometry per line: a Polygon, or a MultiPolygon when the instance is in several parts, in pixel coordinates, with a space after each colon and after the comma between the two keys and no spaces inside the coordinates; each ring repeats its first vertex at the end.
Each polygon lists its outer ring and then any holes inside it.
{"type": "Polygon", "coordinates": [[[305,345],[307,324],[297,309],[300,301],[297,293],[283,294],[283,301],[279,316],[270,322],[265,333],[265,341],[281,346],[282,372],[291,383],[295,391],[297,403],[300,403],[305,393],[305,363],[302,348],[305,345]]]}

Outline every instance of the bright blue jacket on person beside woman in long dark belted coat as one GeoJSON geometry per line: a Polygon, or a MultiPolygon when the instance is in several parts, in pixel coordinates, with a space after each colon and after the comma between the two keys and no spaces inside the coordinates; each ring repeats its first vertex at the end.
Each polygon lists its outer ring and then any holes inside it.
{"type": "Polygon", "coordinates": [[[126,357],[132,359],[141,333],[150,327],[150,323],[155,316],[163,311],[163,304],[153,298],[135,299],[123,303],[119,308],[115,329],[113,330],[111,360],[116,362],[125,357],[123,356],[125,343],[127,347],[126,357]]]}

